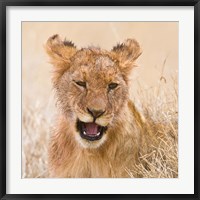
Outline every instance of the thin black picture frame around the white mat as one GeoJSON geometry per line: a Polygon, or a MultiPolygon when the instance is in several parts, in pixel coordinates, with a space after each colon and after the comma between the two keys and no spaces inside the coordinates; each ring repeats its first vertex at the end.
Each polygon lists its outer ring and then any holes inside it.
{"type": "Polygon", "coordinates": [[[0,1],[0,197],[1,199],[200,199],[199,195],[199,0],[1,0],[0,1]],[[6,7],[7,6],[193,6],[194,7],[194,194],[7,194],[6,193],[6,7]]]}

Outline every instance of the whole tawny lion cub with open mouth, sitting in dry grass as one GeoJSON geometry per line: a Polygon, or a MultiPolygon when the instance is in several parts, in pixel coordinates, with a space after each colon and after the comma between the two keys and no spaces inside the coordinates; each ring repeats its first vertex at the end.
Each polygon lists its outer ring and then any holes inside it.
{"type": "Polygon", "coordinates": [[[49,146],[51,176],[129,177],[143,148],[143,122],[128,94],[138,42],[77,49],[54,35],[46,51],[61,111],[49,146]]]}

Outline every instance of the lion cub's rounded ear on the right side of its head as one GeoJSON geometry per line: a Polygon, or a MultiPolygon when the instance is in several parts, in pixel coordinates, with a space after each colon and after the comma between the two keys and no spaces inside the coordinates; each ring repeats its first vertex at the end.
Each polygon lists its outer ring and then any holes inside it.
{"type": "Polygon", "coordinates": [[[120,70],[128,75],[135,66],[135,60],[141,55],[142,51],[139,43],[134,39],[127,39],[124,43],[113,47],[111,51],[114,58],[119,61],[120,70]]]}

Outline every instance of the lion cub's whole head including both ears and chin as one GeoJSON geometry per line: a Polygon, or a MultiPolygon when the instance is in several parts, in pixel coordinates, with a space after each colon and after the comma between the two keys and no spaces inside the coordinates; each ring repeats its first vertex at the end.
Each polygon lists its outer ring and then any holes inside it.
{"type": "Polygon", "coordinates": [[[54,65],[58,104],[70,119],[83,147],[97,148],[109,137],[128,101],[128,75],[141,54],[132,39],[111,51],[77,49],[72,42],[50,37],[46,50],[54,65]]]}

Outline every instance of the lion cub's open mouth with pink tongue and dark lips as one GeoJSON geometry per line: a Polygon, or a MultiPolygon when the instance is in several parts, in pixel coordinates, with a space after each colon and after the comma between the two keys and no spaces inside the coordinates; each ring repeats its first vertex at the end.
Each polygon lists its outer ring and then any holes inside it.
{"type": "Polygon", "coordinates": [[[85,123],[80,120],[77,121],[77,129],[83,139],[89,141],[100,140],[107,130],[107,127],[99,126],[98,124],[91,122],[85,123]]]}

